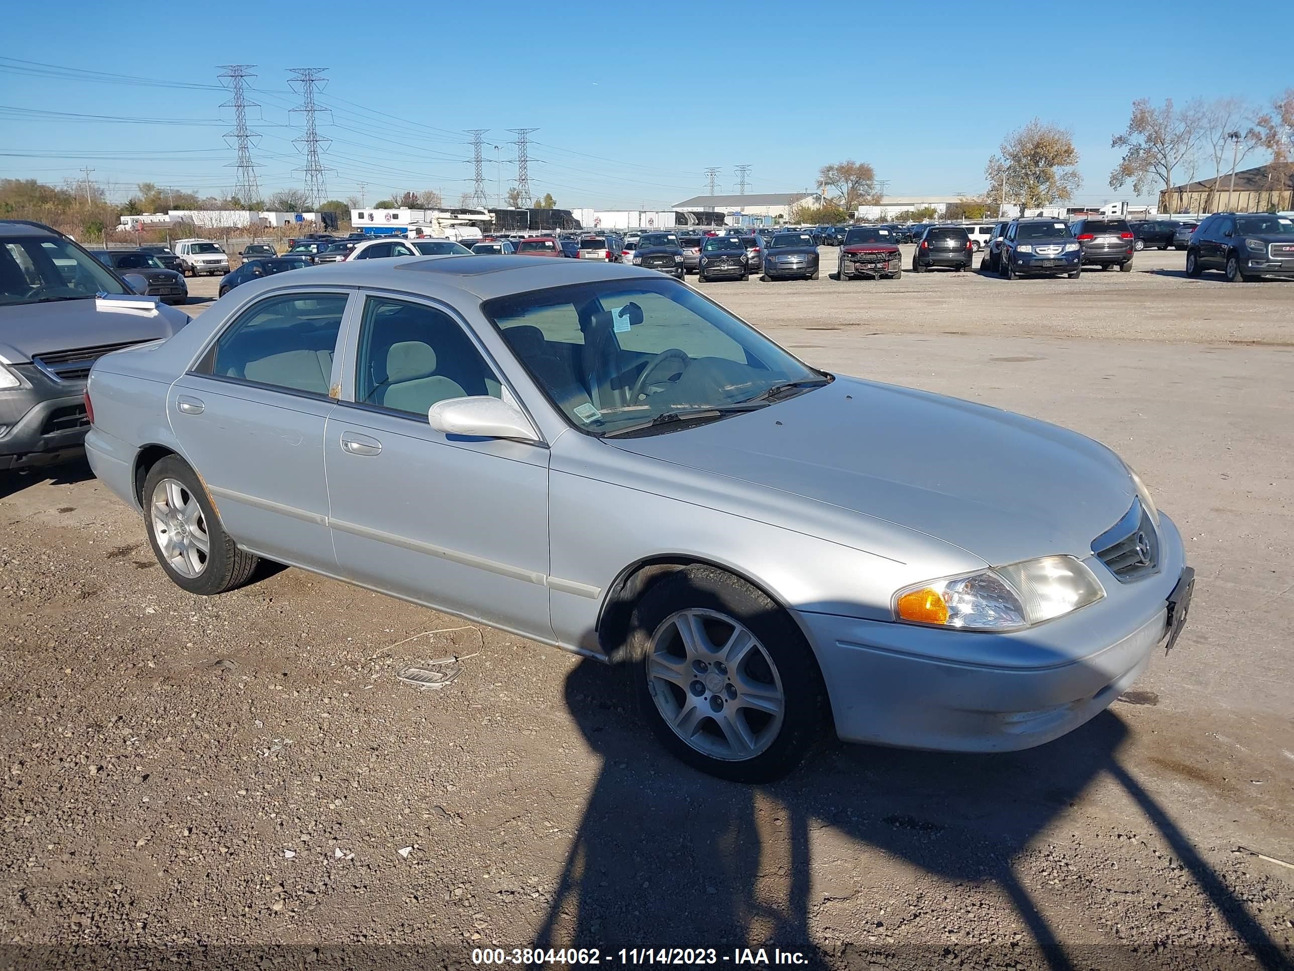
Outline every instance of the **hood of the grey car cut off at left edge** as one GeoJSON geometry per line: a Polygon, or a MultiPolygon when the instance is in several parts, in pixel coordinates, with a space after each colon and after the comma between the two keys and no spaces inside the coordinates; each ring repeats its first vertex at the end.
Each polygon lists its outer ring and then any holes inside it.
{"type": "Polygon", "coordinates": [[[189,322],[181,311],[164,303],[157,307],[155,317],[97,311],[93,299],[0,307],[0,359],[26,364],[50,351],[154,340],[171,337],[189,322]]]}

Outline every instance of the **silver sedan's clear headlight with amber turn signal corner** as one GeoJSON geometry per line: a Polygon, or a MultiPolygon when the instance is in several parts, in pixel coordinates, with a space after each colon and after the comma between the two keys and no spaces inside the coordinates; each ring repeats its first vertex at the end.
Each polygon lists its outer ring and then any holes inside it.
{"type": "Polygon", "coordinates": [[[894,594],[894,618],[959,631],[1018,631],[1104,596],[1092,571],[1074,557],[1042,557],[905,588],[894,594]]]}

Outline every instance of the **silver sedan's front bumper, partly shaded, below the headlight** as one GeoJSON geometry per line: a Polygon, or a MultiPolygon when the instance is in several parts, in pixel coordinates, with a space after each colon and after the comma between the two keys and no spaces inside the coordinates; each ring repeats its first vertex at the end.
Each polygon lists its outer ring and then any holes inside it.
{"type": "Polygon", "coordinates": [[[1051,742],[1104,711],[1168,633],[1185,568],[1161,515],[1159,572],[1121,584],[1095,558],[1105,599],[1008,634],[938,631],[796,611],[846,742],[1002,752],[1051,742]]]}

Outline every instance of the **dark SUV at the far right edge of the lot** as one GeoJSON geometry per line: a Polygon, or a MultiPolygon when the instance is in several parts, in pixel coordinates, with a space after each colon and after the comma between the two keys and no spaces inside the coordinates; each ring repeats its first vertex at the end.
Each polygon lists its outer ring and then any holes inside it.
{"type": "Polygon", "coordinates": [[[1190,234],[1187,276],[1220,269],[1231,282],[1294,277],[1294,219],[1269,212],[1218,212],[1190,234]]]}

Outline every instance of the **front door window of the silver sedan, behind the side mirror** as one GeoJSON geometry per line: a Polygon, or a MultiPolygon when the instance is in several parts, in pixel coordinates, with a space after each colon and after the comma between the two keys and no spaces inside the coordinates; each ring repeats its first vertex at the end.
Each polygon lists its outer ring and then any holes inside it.
{"type": "Polygon", "coordinates": [[[449,315],[370,296],[364,306],[355,400],[427,417],[437,401],[502,397],[498,378],[449,315]]]}

